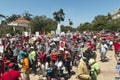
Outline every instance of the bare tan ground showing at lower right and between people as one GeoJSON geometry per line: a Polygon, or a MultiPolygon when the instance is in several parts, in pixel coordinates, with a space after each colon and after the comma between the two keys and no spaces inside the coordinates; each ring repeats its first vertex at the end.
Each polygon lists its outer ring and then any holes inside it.
{"type": "MultiPolygon", "coordinates": [[[[114,57],[114,51],[108,51],[107,56],[110,58],[109,62],[101,62],[99,56],[99,50],[97,53],[97,62],[100,65],[101,73],[98,76],[98,80],[114,80],[118,74],[116,73],[116,60],[114,57]]],[[[73,68],[73,71],[76,71],[76,68],[73,68]]],[[[30,80],[39,80],[39,76],[30,75],[30,80]]],[[[73,75],[69,80],[77,80],[76,75],[73,75]]]]}

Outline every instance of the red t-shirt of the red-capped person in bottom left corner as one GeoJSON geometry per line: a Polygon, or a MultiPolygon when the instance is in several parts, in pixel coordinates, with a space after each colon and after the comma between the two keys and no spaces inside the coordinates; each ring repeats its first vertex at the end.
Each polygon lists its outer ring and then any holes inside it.
{"type": "MultiPolygon", "coordinates": [[[[19,71],[17,71],[17,70],[10,70],[9,72],[10,72],[13,80],[19,80],[19,78],[21,77],[19,71]]],[[[7,71],[2,75],[0,80],[12,80],[12,79],[7,71]]]]}

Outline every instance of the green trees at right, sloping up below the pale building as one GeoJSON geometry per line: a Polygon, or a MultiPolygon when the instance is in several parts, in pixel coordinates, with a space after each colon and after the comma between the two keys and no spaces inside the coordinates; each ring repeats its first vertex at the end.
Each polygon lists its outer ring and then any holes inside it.
{"type": "Polygon", "coordinates": [[[120,18],[112,19],[110,13],[107,16],[98,15],[94,18],[91,23],[85,22],[80,24],[77,29],[79,31],[92,30],[92,31],[100,31],[100,30],[109,30],[109,31],[117,31],[120,28],[120,18]]]}

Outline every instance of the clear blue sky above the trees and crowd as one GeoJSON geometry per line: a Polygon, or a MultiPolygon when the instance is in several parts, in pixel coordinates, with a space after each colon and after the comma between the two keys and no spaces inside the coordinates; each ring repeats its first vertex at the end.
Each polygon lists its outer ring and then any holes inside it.
{"type": "Polygon", "coordinates": [[[120,0],[0,0],[0,14],[10,16],[22,14],[25,11],[33,15],[46,15],[53,18],[52,13],[62,8],[65,12],[65,21],[73,21],[73,26],[91,22],[97,15],[107,15],[120,8],[120,0]]]}

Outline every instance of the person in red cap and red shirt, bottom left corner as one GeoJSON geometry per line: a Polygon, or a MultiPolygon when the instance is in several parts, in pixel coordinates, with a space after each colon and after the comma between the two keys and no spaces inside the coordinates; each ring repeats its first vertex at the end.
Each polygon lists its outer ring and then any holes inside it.
{"type": "Polygon", "coordinates": [[[9,71],[5,72],[0,80],[22,80],[22,77],[19,73],[19,71],[14,70],[15,64],[10,63],[9,64],[9,71]]]}

